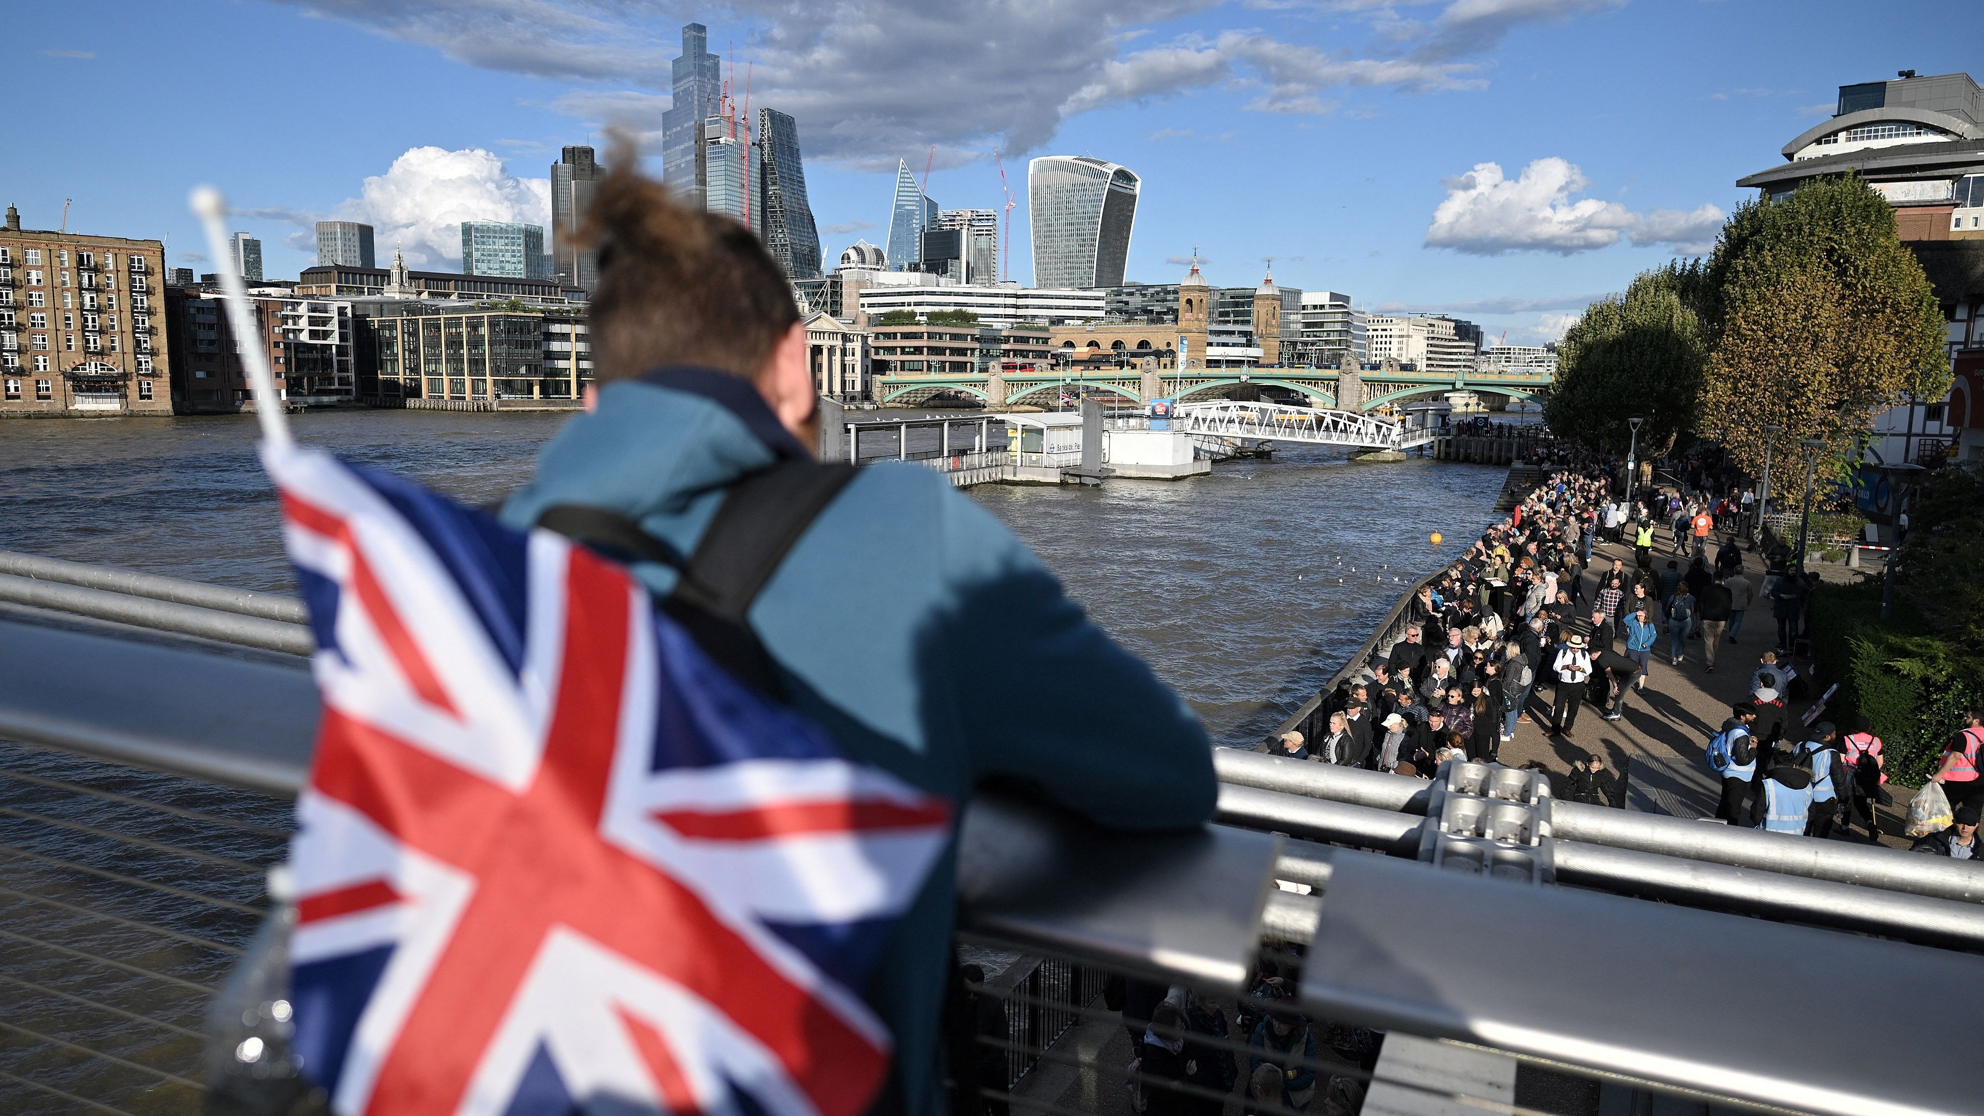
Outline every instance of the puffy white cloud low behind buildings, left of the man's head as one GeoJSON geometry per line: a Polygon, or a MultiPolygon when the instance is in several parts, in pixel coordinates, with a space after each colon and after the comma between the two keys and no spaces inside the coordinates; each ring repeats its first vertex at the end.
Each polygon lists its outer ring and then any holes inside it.
{"type": "Polygon", "coordinates": [[[480,147],[415,147],[385,175],[365,179],[337,212],[377,230],[381,260],[387,244],[399,244],[409,266],[438,270],[460,264],[464,220],[520,220],[544,226],[550,238],[552,181],[518,179],[480,147]]]}

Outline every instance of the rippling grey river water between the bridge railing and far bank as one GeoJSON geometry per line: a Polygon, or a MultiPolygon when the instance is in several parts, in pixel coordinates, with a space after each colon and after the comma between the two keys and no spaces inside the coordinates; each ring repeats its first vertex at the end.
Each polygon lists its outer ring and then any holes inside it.
{"type": "MultiPolygon", "coordinates": [[[[302,441],[482,502],[530,475],[565,415],[329,411],[292,423],[302,441]]],[[[0,425],[0,548],[288,592],[252,439],[252,417],[0,425]]],[[[968,496],[1177,687],[1216,743],[1252,745],[1405,584],[1458,554],[1430,546],[1430,532],[1480,534],[1502,479],[1480,465],[1353,465],[1343,451],[1292,447],[1188,481],[982,485],[968,496]]]]}

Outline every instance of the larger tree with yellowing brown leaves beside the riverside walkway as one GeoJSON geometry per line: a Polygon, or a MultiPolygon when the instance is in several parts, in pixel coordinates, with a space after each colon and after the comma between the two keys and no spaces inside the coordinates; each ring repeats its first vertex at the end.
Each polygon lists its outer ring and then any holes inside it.
{"type": "Polygon", "coordinates": [[[1853,177],[1809,179],[1738,209],[1704,268],[1708,365],[1698,427],[1748,471],[1778,445],[1823,439],[1827,473],[1875,413],[1950,389],[1942,310],[1895,234],[1887,199],[1853,177]]]}

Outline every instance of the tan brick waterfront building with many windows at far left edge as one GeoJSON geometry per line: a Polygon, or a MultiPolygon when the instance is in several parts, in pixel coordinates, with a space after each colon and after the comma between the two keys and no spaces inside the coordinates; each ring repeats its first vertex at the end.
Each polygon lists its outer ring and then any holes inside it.
{"type": "Polygon", "coordinates": [[[169,415],[165,244],[0,226],[0,415],[169,415]]]}

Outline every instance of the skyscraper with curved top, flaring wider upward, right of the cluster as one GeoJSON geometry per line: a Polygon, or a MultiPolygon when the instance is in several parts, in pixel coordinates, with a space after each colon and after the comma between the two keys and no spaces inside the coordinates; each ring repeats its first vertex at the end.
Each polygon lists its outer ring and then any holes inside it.
{"type": "Polygon", "coordinates": [[[1121,286],[1143,179],[1087,155],[1044,155],[1026,171],[1034,286],[1121,286]]]}

